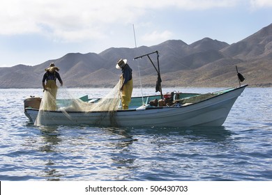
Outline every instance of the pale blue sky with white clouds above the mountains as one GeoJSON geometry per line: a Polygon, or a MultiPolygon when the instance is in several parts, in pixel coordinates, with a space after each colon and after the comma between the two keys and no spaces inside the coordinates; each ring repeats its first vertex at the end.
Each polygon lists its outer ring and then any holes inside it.
{"type": "Polygon", "coordinates": [[[166,40],[232,44],[271,23],[272,0],[2,0],[0,67],[166,40]]]}

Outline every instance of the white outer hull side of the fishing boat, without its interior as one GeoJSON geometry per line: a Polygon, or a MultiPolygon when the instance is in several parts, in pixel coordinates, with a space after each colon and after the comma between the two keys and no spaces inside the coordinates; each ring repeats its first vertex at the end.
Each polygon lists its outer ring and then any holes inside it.
{"type": "MultiPolygon", "coordinates": [[[[189,127],[221,126],[236,99],[246,86],[229,89],[213,98],[182,107],[151,107],[119,110],[114,113],[43,111],[40,125],[100,125],[118,127],[189,127]]],[[[38,109],[25,109],[26,116],[35,121],[38,109]]]]}

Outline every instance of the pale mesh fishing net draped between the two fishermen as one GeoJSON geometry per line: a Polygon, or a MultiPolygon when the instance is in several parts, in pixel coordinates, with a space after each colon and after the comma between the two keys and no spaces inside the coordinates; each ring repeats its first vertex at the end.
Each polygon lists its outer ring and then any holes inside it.
{"type": "Polygon", "coordinates": [[[114,119],[114,113],[117,109],[119,109],[121,100],[120,83],[121,82],[119,81],[116,86],[114,86],[112,91],[109,91],[104,98],[94,99],[90,102],[83,101],[79,98],[74,98],[73,95],[70,95],[67,90],[62,90],[61,96],[68,96],[68,98],[55,100],[53,95],[50,93],[50,90],[45,91],[43,99],[40,102],[38,116],[34,125],[45,125],[43,119],[50,114],[48,111],[61,111],[68,118],[68,120],[73,120],[73,116],[70,114],[71,111],[100,111],[100,118],[98,118],[96,121],[96,125],[99,125],[103,120],[105,120],[105,117],[108,116],[109,118],[107,119],[110,120],[110,124],[115,126],[116,121],[114,119]],[[66,95],[63,93],[66,93],[66,95]]]}

